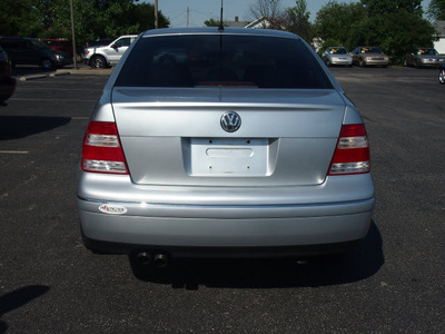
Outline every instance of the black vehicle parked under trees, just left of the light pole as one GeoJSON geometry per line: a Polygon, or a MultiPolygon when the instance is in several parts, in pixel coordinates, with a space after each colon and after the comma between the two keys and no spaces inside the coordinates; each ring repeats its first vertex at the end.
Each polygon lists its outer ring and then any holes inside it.
{"type": "Polygon", "coordinates": [[[37,65],[55,69],[71,63],[71,57],[43,45],[34,38],[0,37],[0,46],[7,51],[12,66],[37,65]]]}

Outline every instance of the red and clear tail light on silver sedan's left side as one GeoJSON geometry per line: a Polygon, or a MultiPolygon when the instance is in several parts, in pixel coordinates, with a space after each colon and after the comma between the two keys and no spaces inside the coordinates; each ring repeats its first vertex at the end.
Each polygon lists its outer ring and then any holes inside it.
{"type": "Polygon", "coordinates": [[[90,121],[83,139],[82,170],[128,174],[115,122],[90,121]]]}

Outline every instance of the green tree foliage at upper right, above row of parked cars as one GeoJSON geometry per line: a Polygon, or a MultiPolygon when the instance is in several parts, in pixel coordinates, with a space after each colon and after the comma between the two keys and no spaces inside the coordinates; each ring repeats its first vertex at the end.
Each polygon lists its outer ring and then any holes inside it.
{"type": "Polygon", "coordinates": [[[323,40],[335,39],[348,49],[379,46],[400,62],[408,49],[433,45],[434,28],[422,16],[421,0],[329,1],[317,13],[316,31],[323,40]]]}

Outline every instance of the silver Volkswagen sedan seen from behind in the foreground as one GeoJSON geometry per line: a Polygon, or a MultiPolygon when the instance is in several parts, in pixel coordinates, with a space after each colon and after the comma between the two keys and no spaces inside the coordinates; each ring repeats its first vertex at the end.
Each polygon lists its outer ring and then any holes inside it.
{"type": "Polygon", "coordinates": [[[297,36],[150,30],[85,136],[83,242],[142,263],[344,252],[372,222],[369,168],[360,115],[297,36]]]}

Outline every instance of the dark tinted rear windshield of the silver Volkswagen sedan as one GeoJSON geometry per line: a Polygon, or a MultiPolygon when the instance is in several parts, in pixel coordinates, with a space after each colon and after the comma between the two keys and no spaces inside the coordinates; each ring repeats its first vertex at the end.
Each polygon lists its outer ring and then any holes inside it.
{"type": "Polygon", "coordinates": [[[116,86],[333,88],[300,40],[230,35],[141,38],[116,86]]]}

